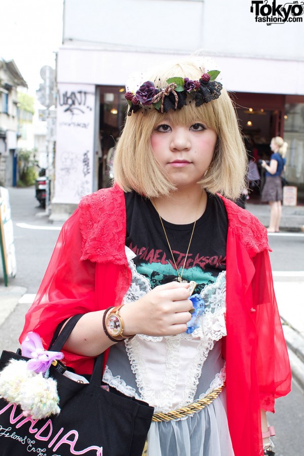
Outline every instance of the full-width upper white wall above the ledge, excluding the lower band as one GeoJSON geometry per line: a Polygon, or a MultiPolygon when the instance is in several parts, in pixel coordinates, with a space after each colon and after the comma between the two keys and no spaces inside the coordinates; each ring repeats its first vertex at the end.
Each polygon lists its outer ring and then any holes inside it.
{"type": "Polygon", "coordinates": [[[65,0],[63,42],[304,59],[304,15],[301,23],[268,26],[255,21],[250,7],[251,0],[65,0]]]}

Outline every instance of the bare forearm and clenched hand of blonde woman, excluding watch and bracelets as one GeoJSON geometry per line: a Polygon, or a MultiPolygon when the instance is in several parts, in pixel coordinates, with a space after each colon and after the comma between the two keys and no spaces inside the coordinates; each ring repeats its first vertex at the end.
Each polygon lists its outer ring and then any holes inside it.
{"type": "MultiPolygon", "coordinates": [[[[175,335],[186,331],[191,320],[189,284],[171,282],[155,287],[135,302],[128,302],[119,314],[124,321],[124,335],[175,335]]],[[[77,323],[67,339],[64,350],[83,356],[98,356],[115,344],[104,333],[105,311],[88,312],[77,323]]]]}

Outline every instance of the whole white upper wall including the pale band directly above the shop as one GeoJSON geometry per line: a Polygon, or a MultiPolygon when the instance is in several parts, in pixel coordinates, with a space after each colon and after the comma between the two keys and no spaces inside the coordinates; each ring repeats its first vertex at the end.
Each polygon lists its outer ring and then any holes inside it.
{"type": "Polygon", "coordinates": [[[124,85],[133,71],[201,49],[229,90],[303,95],[304,22],[268,26],[250,7],[251,0],[65,0],[58,81],[124,85]]]}

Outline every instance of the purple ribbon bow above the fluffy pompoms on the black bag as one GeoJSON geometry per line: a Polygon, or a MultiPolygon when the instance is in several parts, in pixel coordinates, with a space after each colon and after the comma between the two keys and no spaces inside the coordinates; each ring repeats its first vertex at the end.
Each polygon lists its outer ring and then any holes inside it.
{"type": "Polygon", "coordinates": [[[64,357],[61,352],[49,352],[43,348],[41,337],[36,332],[28,332],[21,344],[22,356],[31,358],[27,368],[36,373],[46,372],[52,362],[64,357]]]}

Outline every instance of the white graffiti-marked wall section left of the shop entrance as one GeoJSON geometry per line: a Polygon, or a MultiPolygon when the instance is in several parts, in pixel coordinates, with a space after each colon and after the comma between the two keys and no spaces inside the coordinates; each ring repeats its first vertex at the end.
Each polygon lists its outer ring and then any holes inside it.
{"type": "Polygon", "coordinates": [[[55,198],[78,203],[93,191],[95,87],[59,84],[55,198]]]}

